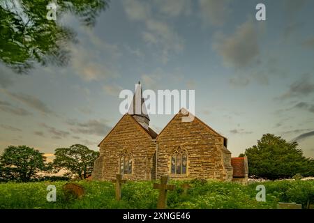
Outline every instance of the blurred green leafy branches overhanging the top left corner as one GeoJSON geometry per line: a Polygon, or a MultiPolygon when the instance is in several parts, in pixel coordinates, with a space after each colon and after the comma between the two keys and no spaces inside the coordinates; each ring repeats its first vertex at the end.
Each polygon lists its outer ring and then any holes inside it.
{"type": "MultiPolygon", "coordinates": [[[[68,43],[76,43],[75,32],[54,20],[47,20],[50,0],[0,1],[0,62],[23,73],[34,63],[66,65],[68,43]]],[[[94,26],[96,17],[108,6],[106,0],[57,2],[57,17],[71,13],[82,24],[94,26]]]]}

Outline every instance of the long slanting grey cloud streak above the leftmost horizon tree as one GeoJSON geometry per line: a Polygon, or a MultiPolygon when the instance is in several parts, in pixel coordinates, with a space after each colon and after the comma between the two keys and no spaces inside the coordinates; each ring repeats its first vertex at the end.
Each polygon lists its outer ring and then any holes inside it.
{"type": "Polygon", "coordinates": [[[42,114],[54,114],[51,109],[47,107],[47,105],[32,95],[27,95],[24,93],[10,93],[9,91],[3,91],[8,95],[10,98],[13,98],[14,100],[20,101],[24,103],[25,105],[36,109],[37,111],[41,112],[42,114]]]}

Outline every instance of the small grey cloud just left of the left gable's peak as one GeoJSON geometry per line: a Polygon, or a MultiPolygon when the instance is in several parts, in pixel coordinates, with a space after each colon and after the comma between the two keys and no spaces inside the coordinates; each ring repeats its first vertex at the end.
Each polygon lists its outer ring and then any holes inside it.
{"type": "Polygon", "coordinates": [[[70,130],[80,134],[94,134],[103,137],[112,127],[105,123],[105,120],[89,120],[87,122],[78,122],[76,120],[68,120],[68,125],[73,126],[70,130]]]}

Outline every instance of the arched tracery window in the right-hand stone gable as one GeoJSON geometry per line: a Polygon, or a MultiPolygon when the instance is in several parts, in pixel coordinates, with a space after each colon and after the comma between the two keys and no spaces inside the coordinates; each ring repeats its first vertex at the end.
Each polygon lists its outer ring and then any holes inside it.
{"type": "Polygon", "coordinates": [[[178,146],[171,155],[171,174],[186,174],[188,153],[178,146]]]}

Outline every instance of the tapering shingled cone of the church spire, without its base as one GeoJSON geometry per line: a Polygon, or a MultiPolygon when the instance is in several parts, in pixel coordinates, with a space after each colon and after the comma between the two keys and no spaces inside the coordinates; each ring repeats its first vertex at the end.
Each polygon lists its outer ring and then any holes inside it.
{"type": "Polygon", "coordinates": [[[148,120],[150,120],[147,114],[147,109],[146,109],[145,101],[142,94],[142,85],[140,84],[140,82],[136,84],[135,93],[133,95],[133,100],[132,100],[132,103],[130,104],[130,108],[128,109],[128,114],[143,116],[145,118],[148,118],[148,120]]]}

